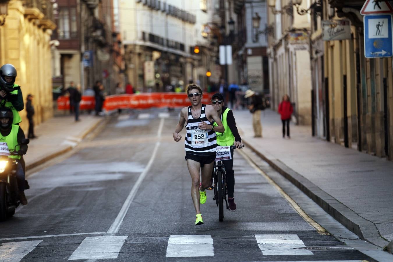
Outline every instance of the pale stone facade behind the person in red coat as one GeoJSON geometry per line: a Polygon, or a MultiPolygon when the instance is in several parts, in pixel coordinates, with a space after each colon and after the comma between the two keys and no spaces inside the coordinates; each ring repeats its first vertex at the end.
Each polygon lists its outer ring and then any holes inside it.
{"type": "MultiPolygon", "coordinates": [[[[267,49],[271,105],[277,110],[283,95],[288,94],[295,123],[310,125],[310,15],[300,15],[291,0],[276,0],[274,5],[271,2],[267,8],[268,26],[274,32],[268,37],[267,49]]],[[[308,6],[308,2],[303,1],[300,7],[308,6]]]]}

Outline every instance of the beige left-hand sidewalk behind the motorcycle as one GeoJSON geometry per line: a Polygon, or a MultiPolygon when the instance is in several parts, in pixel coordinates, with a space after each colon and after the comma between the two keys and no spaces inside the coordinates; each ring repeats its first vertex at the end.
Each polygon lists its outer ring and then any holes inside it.
{"type": "MultiPolygon", "coordinates": [[[[71,150],[104,119],[81,115],[81,121],[75,122],[74,116],[67,115],[53,117],[36,126],[34,133],[38,138],[30,139],[28,152],[24,156],[26,170],[71,150]]],[[[24,133],[27,136],[27,130],[24,133]]]]}

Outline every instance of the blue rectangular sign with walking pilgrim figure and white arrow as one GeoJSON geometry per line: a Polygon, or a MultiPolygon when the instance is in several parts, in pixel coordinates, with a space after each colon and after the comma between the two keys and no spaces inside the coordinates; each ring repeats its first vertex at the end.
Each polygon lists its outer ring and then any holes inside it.
{"type": "Polygon", "coordinates": [[[365,57],[392,57],[392,15],[366,15],[363,22],[365,57]]]}

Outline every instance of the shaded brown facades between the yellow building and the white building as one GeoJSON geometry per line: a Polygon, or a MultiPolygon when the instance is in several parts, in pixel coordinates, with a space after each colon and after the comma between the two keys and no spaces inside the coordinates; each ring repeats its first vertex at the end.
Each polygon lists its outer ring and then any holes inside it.
{"type": "Polygon", "coordinates": [[[124,84],[119,39],[118,0],[56,0],[57,30],[53,40],[54,88],[71,81],[82,89],[103,82],[107,94],[124,84]],[[116,13],[116,20],[115,20],[116,13]]]}

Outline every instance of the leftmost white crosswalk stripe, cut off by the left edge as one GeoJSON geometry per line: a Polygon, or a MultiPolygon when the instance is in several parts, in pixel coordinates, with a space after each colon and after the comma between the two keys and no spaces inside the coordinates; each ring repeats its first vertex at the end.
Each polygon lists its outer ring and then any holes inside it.
{"type": "Polygon", "coordinates": [[[2,243],[0,246],[0,262],[19,262],[41,242],[42,240],[2,243]]]}

